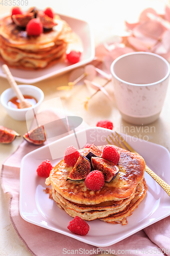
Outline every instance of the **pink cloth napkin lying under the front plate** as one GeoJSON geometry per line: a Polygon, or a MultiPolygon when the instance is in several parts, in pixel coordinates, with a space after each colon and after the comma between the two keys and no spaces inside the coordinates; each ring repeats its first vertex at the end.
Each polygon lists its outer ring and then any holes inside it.
{"type": "MultiPolygon", "coordinates": [[[[52,118],[54,117],[53,114],[51,116],[52,118]]],[[[33,255],[61,256],[80,254],[87,256],[104,253],[104,250],[107,254],[112,253],[122,256],[127,254],[140,256],[145,254],[170,255],[170,216],[138,231],[114,245],[103,248],[85,244],[76,239],[33,225],[23,220],[19,214],[20,162],[23,156],[36,148],[38,148],[38,146],[23,141],[16,152],[4,162],[1,173],[1,182],[4,193],[9,193],[11,195],[9,215],[12,225],[14,226],[18,237],[33,255]]],[[[110,225],[113,225],[114,228],[114,224],[110,225]]]]}

